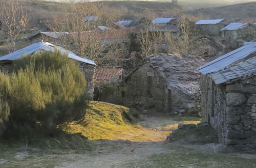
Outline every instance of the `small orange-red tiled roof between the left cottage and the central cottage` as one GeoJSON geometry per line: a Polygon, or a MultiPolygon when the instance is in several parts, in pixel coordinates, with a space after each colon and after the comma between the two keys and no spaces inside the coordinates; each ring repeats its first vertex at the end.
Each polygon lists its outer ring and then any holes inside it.
{"type": "Polygon", "coordinates": [[[116,75],[122,73],[123,68],[103,68],[97,67],[95,71],[95,80],[96,81],[109,81],[114,78],[116,75]]]}

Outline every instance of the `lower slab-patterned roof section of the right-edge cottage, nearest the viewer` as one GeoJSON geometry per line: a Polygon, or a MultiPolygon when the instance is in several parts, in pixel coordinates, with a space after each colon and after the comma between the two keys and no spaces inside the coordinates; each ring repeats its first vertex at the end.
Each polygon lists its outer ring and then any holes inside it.
{"type": "Polygon", "coordinates": [[[251,75],[254,72],[256,72],[256,57],[211,74],[211,77],[214,79],[216,85],[219,85],[232,79],[251,75]]]}

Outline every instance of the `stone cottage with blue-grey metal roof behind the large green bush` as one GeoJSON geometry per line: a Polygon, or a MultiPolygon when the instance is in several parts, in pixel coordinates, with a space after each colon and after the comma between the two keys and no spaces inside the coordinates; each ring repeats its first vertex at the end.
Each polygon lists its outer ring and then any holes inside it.
{"type": "Polygon", "coordinates": [[[95,66],[96,64],[92,60],[88,60],[86,58],[79,57],[77,54],[53,45],[47,42],[38,42],[31,44],[23,49],[17,50],[13,53],[5,55],[4,57],[0,58],[0,72],[4,72],[9,74],[13,72],[13,60],[20,59],[24,55],[30,55],[32,53],[45,50],[45,51],[54,51],[55,49],[59,50],[61,53],[67,53],[68,58],[76,60],[79,64],[80,70],[86,76],[87,86],[86,86],[86,93],[93,99],[93,92],[94,92],[94,73],[95,73],[95,66]]]}

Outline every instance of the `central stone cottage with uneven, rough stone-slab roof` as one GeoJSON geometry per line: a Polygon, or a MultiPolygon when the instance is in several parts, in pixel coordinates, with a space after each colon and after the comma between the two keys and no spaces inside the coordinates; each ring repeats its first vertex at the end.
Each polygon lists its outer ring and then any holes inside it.
{"type": "Polygon", "coordinates": [[[145,58],[118,87],[124,105],[156,113],[181,114],[200,109],[199,73],[204,60],[159,53],[145,58]]]}

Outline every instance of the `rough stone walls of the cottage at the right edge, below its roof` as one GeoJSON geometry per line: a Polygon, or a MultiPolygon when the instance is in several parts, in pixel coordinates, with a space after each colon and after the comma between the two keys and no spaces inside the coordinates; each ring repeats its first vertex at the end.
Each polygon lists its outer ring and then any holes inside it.
{"type": "Polygon", "coordinates": [[[256,150],[256,77],[216,86],[202,85],[203,119],[214,127],[219,142],[233,149],[256,150]]]}

